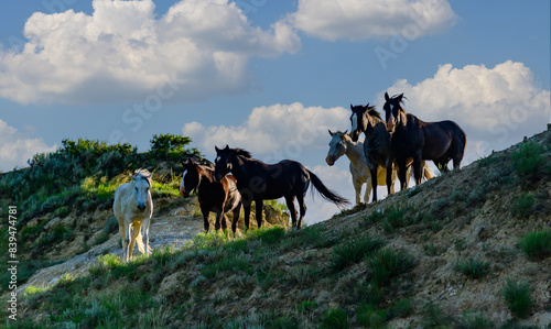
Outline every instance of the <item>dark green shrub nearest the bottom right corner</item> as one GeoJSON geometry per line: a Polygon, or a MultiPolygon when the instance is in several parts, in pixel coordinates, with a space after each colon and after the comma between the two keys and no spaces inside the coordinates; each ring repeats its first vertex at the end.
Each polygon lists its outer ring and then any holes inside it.
{"type": "Polygon", "coordinates": [[[530,284],[528,282],[507,279],[503,293],[511,314],[521,319],[528,318],[533,306],[530,284]]]}

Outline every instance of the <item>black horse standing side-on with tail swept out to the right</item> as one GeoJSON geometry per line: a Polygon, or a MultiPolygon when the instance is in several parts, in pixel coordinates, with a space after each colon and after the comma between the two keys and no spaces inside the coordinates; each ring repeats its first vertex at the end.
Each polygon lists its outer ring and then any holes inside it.
{"type": "Polygon", "coordinates": [[[216,150],[215,179],[220,180],[226,174],[231,173],[237,178],[237,188],[242,197],[245,208],[245,226],[249,229],[249,217],[252,201],[256,205],[257,224],[262,226],[262,201],[285,198],[287,207],[291,212],[293,228],[301,229],[302,219],[306,213],[304,196],[310,186],[322,197],[342,207],[348,200],[329,190],[322,180],[301,163],[283,160],[277,164],[266,164],[251,157],[250,153],[241,149],[216,150]],[[296,220],[294,199],[299,201],[300,217],[296,220]]]}

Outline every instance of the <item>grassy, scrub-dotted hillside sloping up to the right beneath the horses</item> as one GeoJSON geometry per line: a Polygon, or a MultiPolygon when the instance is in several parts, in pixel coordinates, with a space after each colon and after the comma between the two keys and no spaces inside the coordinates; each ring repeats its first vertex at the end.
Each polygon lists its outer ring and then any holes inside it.
{"type": "MultiPolygon", "coordinates": [[[[550,328],[550,164],[548,130],[303,230],[237,237],[192,238],[201,220],[190,218],[191,204],[168,197],[155,205],[152,256],[121,263],[111,232],[86,252],[86,271],[28,285],[17,325],[550,328]],[[186,223],[162,231],[169,221],[186,223]],[[180,243],[163,244],[168,237],[180,243]]],[[[111,216],[100,211],[94,232],[111,216]]],[[[69,261],[62,245],[48,257],[69,261]]]]}

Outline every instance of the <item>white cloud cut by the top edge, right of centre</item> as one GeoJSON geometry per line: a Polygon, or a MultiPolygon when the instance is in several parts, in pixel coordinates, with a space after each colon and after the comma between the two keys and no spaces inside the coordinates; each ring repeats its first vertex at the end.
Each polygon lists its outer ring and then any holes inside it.
{"type": "Polygon", "coordinates": [[[299,10],[287,20],[326,41],[413,40],[445,31],[456,14],[446,0],[299,0],[299,10]]]}

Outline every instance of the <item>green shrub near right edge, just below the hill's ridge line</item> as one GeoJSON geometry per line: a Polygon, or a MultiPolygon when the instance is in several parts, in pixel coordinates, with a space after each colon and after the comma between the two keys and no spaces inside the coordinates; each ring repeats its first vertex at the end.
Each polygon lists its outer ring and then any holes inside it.
{"type": "Polygon", "coordinates": [[[536,142],[526,142],[511,154],[512,168],[522,179],[534,179],[544,169],[543,146],[536,142]]]}

